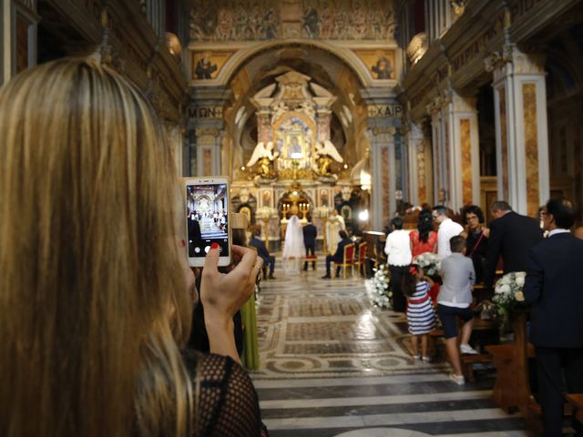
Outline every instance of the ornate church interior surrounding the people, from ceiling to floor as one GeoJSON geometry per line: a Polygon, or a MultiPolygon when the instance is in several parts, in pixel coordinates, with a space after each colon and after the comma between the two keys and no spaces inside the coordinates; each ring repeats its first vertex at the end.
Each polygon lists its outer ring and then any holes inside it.
{"type": "Polygon", "coordinates": [[[443,330],[428,334],[431,360],[412,358],[384,248],[395,218],[414,230],[438,205],[464,227],[469,205],[484,227],[496,201],[537,220],[549,198],[583,206],[583,1],[0,5],[0,85],[95,56],[155,108],[176,177],[230,178],[220,198],[187,202],[203,235],[226,237],[230,214],[275,257],[276,279],[241,310],[269,435],[543,435],[526,316],[500,328],[494,289],[477,283],[479,353],[462,355],[456,385],[443,330]],[[315,271],[286,268],[293,216],[316,229],[300,265],[315,271]],[[344,249],[322,279],[340,230],[351,260],[344,249]]]}

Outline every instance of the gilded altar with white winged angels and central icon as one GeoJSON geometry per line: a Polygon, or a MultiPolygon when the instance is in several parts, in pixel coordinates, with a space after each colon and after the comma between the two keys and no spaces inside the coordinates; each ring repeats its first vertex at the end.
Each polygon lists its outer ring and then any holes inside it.
{"type": "Polygon", "coordinates": [[[302,223],[312,218],[322,239],[334,199],[350,190],[349,169],[331,141],[335,101],[296,71],[277,76],[251,98],[257,145],[244,161],[244,178],[232,184],[232,196],[236,210],[261,227],[263,239],[283,239],[292,215],[302,223]]]}

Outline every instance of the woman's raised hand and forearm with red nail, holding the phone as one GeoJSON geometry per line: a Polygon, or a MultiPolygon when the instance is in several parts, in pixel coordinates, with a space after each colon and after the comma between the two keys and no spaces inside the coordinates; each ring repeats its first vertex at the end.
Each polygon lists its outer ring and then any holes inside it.
{"type": "Polygon", "coordinates": [[[263,260],[257,257],[255,250],[240,246],[232,246],[232,254],[240,262],[225,274],[217,268],[219,249],[209,250],[202,269],[200,301],[204,307],[210,351],[240,362],[233,335],[233,316],[251,297],[263,260]]]}

